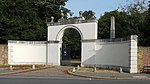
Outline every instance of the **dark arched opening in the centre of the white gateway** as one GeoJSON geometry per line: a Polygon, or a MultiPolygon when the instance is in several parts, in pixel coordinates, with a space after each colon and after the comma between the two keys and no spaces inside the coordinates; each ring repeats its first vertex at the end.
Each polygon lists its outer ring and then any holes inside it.
{"type": "Polygon", "coordinates": [[[74,28],[64,30],[61,48],[61,65],[76,66],[81,63],[81,35],[74,28]]]}

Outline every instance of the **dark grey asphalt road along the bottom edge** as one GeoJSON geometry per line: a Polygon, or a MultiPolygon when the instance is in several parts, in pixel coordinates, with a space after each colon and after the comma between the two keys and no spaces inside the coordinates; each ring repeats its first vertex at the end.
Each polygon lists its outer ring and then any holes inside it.
{"type": "Polygon", "coordinates": [[[149,84],[150,80],[95,80],[88,78],[0,77],[0,84],[149,84]]]}

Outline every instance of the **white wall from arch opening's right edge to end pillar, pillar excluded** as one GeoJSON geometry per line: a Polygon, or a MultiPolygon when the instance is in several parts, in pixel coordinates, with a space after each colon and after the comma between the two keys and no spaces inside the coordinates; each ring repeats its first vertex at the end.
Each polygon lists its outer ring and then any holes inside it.
{"type": "Polygon", "coordinates": [[[130,40],[83,42],[82,66],[130,67],[130,40]]]}

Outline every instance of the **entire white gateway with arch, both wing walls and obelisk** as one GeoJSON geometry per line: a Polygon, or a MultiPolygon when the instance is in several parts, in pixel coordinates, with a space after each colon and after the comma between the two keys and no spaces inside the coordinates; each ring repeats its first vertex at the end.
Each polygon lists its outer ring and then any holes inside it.
{"type": "MultiPolygon", "coordinates": [[[[63,15],[63,14],[62,14],[63,15]]],[[[81,66],[120,69],[137,73],[137,36],[115,38],[115,20],[112,18],[110,39],[97,39],[98,22],[94,16],[59,19],[48,23],[47,41],[8,41],[8,64],[61,65],[64,31],[75,29],[81,37],[81,66]]]]}

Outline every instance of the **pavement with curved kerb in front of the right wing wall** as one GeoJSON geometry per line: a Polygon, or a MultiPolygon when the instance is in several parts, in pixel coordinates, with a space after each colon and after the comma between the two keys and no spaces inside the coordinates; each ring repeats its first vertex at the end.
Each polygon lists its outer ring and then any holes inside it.
{"type": "Polygon", "coordinates": [[[83,71],[73,71],[69,70],[69,74],[74,76],[95,78],[95,79],[112,79],[112,80],[150,80],[150,74],[146,73],[112,73],[112,72],[83,72],[83,71]]]}

